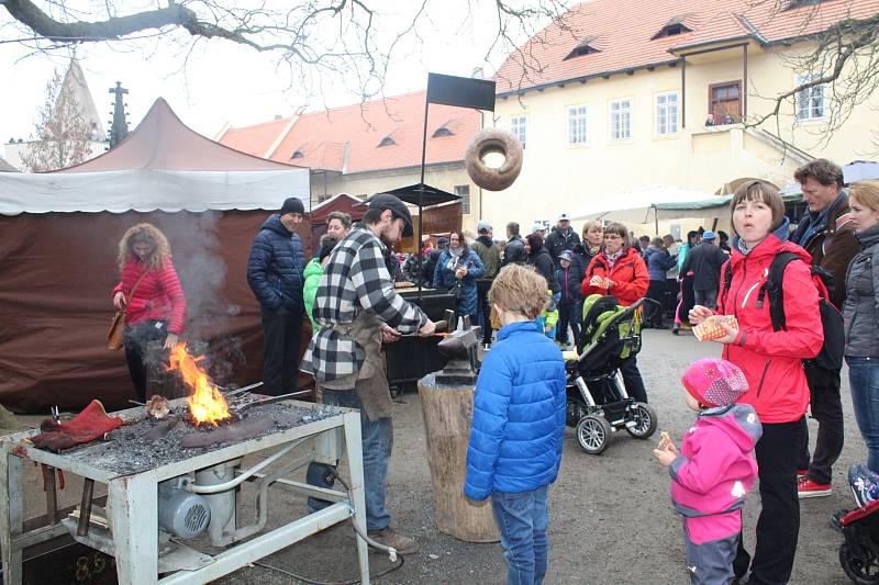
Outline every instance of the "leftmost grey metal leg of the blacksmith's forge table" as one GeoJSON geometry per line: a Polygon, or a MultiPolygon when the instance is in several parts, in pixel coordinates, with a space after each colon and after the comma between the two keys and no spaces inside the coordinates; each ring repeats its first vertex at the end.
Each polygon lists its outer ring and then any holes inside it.
{"type": "Polygon", "coordinates": [[[22,549],[12,540],[24,527],[22,459],[0,453],[0,548],[3,549],[3,583],[21,585],[22,549]]]}

